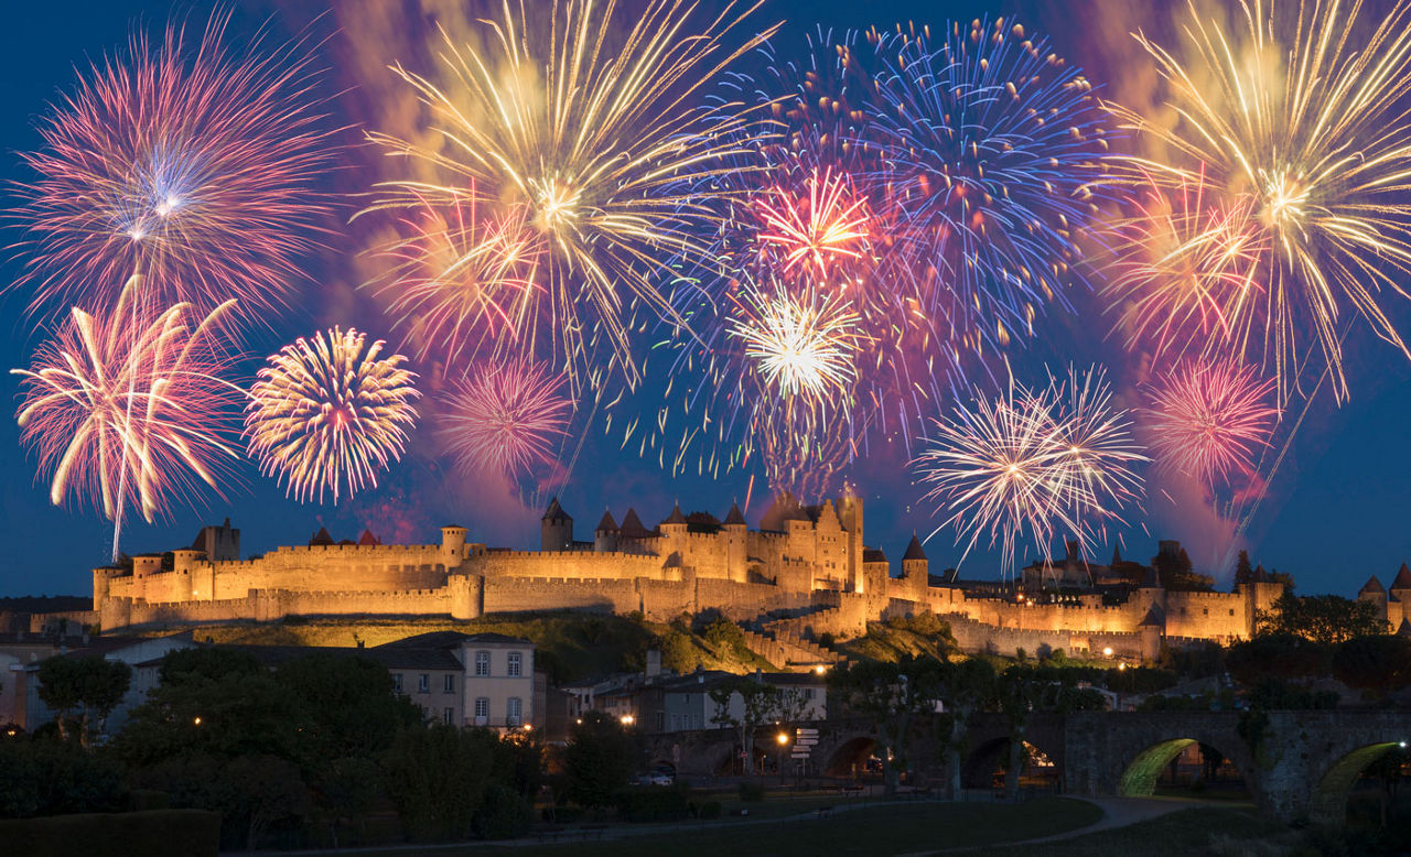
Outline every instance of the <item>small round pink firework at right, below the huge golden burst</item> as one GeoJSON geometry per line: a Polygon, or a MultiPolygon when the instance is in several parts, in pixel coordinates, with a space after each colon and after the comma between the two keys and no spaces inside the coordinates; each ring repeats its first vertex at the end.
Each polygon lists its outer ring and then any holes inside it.
{"type": "Polygon", "coordinates": [[[1143,416],[1157,462],[1205,483],[1252,472],[1278,420],[1273,392],[1273,381],[1235,359],[1182,362],[1149,392],[1143,416]]]}

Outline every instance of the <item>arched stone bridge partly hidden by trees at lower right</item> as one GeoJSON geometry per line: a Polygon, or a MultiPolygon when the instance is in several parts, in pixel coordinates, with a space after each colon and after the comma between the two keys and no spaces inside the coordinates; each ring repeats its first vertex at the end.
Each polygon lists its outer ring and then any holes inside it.
{"type": "MultiPolygon", "coordinates": [[[[875,747],[861,720],[823,720],[811,767],[849,775],[875,747]]],[[[923,774],[941,778],[943,754],[923,727],[909,756],[923,774]]],[[[773,732],[761,730],[755,753],[773,757],[773,732]]],[[[981,715],[962,754],[962,784],[983,788],[1007,750],[1009,722],[981,715]]],[[[1267,712],[1079,712],[1034,715],[1024,741],[1054,763],[1062,791],[1078,795],[1150,795],[1157,775],[1197,741],[1221,751],[1239,768],[1256,805],[1285,822],[1340,823],[1357,777],[1387,750],[1411,741],[1411,710],[1267,712]],[[1242,719],[1246,723],[1242,733],[1242,719]]],[[[735,730],[649,736],[653,760],[673,763],[686,775],[729,768],[739,753],[735,730]]]]}

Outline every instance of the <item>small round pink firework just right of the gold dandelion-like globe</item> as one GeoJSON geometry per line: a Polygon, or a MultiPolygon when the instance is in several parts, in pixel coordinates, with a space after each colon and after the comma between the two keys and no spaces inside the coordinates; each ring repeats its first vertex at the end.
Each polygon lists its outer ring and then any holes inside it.
{"type": "Polygon", "coordinates": [[[487,365],[456,390],[440,438],[473,472],[512,476],[543,467],[573,414],[564,386],[566,378],[543,364],[487,365]]]}

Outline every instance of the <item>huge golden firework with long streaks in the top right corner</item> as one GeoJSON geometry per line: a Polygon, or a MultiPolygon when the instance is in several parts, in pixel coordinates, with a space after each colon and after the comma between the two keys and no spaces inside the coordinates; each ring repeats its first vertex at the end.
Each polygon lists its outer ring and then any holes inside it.
{"type": "Polygon", "coordinates": [[[1218,347],[1271,366],[1281,400],[1316,354],[1346,399],[1339,319],[1411,354],[1383,304],[1411,272],[1411,4],[1242,1],[1230,27],[1189,11],[1187,51],[1136,35],[1178,121],[1112,106],[1151,152],[1132,169],[1249,211],[1260,289],[1219,302],[1218,347]]]}

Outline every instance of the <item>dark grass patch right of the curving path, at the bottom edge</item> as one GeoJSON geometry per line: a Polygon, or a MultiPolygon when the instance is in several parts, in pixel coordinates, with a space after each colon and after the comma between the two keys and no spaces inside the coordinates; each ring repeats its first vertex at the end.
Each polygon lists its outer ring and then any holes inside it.
{"type": "Polygon", "coordinates": [[[1075,836],[1043,846],[986,849],[985,857],[1264,857],[1307,854],[1302,836],[1253,810],[1221,808],[1182,809],[1116,830],[1075,836]]]}

